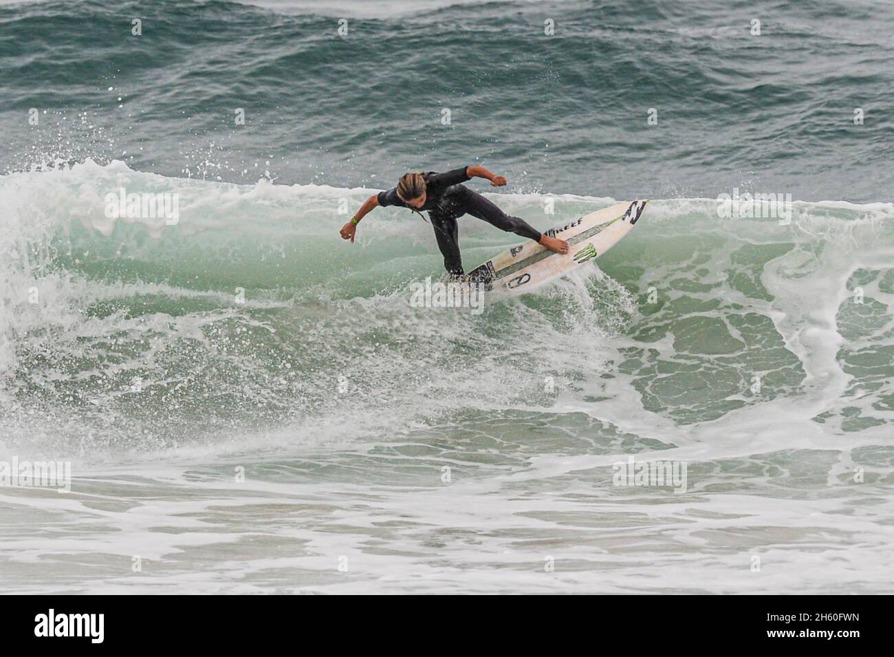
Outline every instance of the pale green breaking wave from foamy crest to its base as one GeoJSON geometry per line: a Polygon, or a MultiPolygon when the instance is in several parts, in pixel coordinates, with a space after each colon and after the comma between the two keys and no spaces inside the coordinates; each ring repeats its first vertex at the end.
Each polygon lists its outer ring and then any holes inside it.
{"type": "MultiPolygon", "coordinates": [[[[356,386],[357,417],[388,433],[458,406],[577,403],[544,395],[551,380],[620,426],[637,409],[689,440],[762,408],[822,435],[890,424],[891,204],[794,201],[781,225],[653,200],[598,266],[477,316],[409,303],[442,269],[415,215],[379,208],[340,239],[343,208],[370,193],[122,162],[0,177],[7,431],[157,449],[334,421],[356,386]],[[180,195],[179,221],[106,216],[122,188],[180,195]]],[[[544,227],[614,202],[490,198],[544,227]]],[[[518,241],[473,217],[460,233],[468,263],[518,241]]]]}

